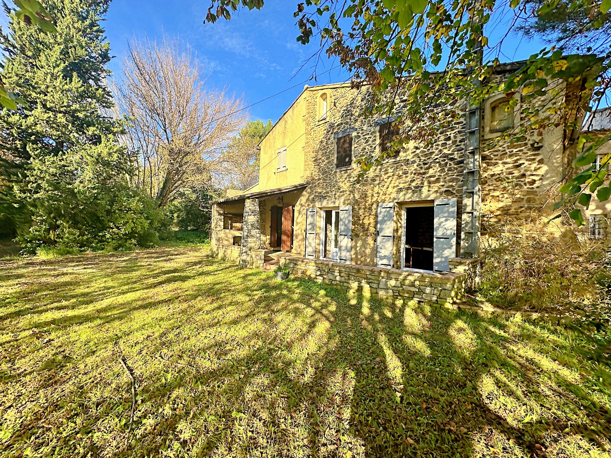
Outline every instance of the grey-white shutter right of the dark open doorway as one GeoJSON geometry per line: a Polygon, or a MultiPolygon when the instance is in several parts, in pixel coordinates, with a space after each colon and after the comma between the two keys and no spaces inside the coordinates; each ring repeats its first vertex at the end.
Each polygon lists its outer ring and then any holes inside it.
{"type": "Polygon", "coordinates": [[[433,270],[450,270],[451,258],[456,257],[456,198],[435,200],[433,238],[433,270]]]}

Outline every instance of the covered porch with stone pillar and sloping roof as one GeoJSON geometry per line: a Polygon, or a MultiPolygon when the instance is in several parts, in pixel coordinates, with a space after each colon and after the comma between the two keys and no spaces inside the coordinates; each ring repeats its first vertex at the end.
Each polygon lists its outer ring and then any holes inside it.
{"type": "Polygon", "coordinates": [[[307,183],[215,200],[212,253],[244,267],[278,263],[294,244],[295,206],[307,183]]]}

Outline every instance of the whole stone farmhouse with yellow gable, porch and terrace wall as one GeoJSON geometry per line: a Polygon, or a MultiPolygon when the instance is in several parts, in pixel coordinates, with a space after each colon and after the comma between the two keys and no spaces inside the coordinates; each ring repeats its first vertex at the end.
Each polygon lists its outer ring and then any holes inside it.
{"type": "Polygon", "coordinates": [[[450,304],[474,277],[481,220],[536,216],[562,180],[563,126],[496,142],[521,122],[521,94],[508,110],[500,93],[457,107],[432,145],[404,145],[356,182],[355,160],[395,134],[393,117],[359,116],[365,92],[304,87],[260,143],[258,184],[213,203],[213,255],[280,264],[354,293],[450,304]]]}

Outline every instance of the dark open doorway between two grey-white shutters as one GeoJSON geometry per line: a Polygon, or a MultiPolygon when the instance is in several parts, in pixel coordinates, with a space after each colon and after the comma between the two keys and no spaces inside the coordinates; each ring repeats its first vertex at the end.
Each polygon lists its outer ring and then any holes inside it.
{"type": "Polygon", "coordinates": [[[405,209],[404,267],[433,270],[433,227],[433,206],[405,209]]]}

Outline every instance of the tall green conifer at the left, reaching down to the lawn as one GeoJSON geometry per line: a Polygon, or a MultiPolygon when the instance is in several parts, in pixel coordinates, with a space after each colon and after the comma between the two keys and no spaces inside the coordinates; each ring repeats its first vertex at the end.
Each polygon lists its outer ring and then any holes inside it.
{"type": "Polygon", "coordinates": [[[49,0],[57,32],[47,33],[4,4],[0,76],[27,106],[0,112],[0,191],[5,206],[26,215],[18,230],[31,250],[137,244],[150,232],[147,204],[128,186],[131,158],[115,139],[122,126],[106,114],[111,57],[100,21],[108,5],[49,0]]]}

